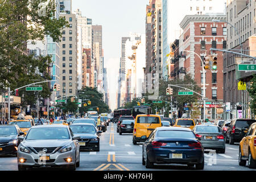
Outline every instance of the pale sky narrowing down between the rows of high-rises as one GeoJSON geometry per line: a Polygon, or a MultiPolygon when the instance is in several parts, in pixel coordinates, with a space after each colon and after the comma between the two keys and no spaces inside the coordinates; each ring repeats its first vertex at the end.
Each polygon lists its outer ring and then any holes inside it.
{"type": "Polygon", "coordinates": [[[107,68],[110,109],[115,108],[121,38],[129,32],[145,32],[146,5],[149,0],[72,0],[72,11],[102,25],[104,67],[107,68]]]}

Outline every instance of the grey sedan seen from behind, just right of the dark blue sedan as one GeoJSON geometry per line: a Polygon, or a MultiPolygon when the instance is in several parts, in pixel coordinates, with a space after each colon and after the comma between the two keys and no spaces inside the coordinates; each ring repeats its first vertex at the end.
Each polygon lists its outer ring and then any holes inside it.
{"type": "Polygon", "coordinates": [[[217,153],[225,153],[225,137],[221,128],[216,125],[196,125],[192,130],[196,138],[200,140],[204,149],[216,150],[217,153]]]}

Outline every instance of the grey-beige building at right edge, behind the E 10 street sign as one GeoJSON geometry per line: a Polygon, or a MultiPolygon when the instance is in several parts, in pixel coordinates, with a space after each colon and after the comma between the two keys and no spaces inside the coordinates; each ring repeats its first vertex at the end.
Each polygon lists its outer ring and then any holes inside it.
{"type": "MultiPolygon", "coordinates": [[[[228,0],[227,1],[227,46],[233,52],[256,56],[256,2],[252,0],[228,0]],[[241,46],[240,46],[241,44],[241,46]]],[[[224,53],[224,102],[230,103],[230,111],[225,110],[225,118],[251,118],[249,107],[249,93],[246,90],[238,90],[238,82],[242,81],[249,85],[250,78],[255,72],[238,71],[236,59],[241,55],[224,53]]],[[[243,56],[243,60],[247,57],[243,56]]],[[[241,60],[241,59],[240,59],[241,60]]],[[[247,64],[250,64],[246,62],[247,64]]],[[[245,64],[246,64],[245,63],[245,64]]]]}

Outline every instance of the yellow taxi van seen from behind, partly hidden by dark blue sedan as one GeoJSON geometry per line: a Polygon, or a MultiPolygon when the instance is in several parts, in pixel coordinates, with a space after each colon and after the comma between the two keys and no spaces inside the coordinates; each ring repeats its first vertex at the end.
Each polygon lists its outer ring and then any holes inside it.
{"type": "Polygon", "coordinates": [[[133,144],[144,142],[156,127],[161,127],[159,115],[139,114],[136,116],[133,129],[133,144]]]}

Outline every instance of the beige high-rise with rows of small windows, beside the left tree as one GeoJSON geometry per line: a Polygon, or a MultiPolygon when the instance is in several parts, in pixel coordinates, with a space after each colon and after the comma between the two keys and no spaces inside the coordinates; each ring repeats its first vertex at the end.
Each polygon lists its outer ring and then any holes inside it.
{"type": "Polygon", "coordinates": [[[61,14],[69,23],[60,42],[61,96],[77,94],[77,20],[75,14],[61,14]]]}

